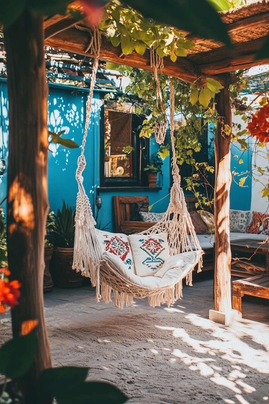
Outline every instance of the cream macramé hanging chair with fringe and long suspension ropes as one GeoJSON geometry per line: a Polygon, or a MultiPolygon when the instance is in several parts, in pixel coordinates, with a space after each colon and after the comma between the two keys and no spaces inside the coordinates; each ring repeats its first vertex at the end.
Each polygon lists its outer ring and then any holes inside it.
{"type": "MultiPolygon", "coordinates": [[[[88,30],[84,27],[76,26],[78,29],[88,30]]],[[[167,303],[171,305],[175,303],[177,299],[182,297],[182,279],[186,278],[186,283],[192,285],[192,271],[198,264],[198,272],[202,268],[202,254],[198,238],[194,231],[190,214],[187,209],[187,205],[184,198],[183,189],[180,186],[179,168],[176,163],[175,145],[174,145],[174,89],[172,80],[170,80],[170,128],[171,128],[171,146],[173,151],[173,186],[171,188],[170,203],[167,208],[167,212],[161,218],[161,221],[156,223],[150,229],[143,231],[140,234],[156,234],[166,233],[169,243],[169,255],[170,257],[182,254],[182,258],[186,257],[186,262],[181,266],[180,273],[174,274],[171,277],[170,283],[166,282],[162,285],[162,282],[157,282],[157,286],[150,286],[147,282],[152,277],[138,277],[133,275],[130,279],[127,276],[123,276],[117,271],[117,268],[113,267],[111,263],[108,263],[108,259],[104,259],[100,246],[100,240],[98,237],[98,229],[95,228],[96,222],[92,215],[92,209],[88,196],[85,193],[83,187],[82,172],[85,168],[85,142],[88,133],[88,126],[90,122],[90,114],[92,109],[92,97],[94,91],[94,85],[96,81],[96,72],[98,69],[98,59],[101,44],[101,34],[98,29],[92,32],[92,39],[90,41],[90,47],[92,53],[95,55],[95,60],[92,69],[92,77],[90,83],[90,93],[86,103],[86,119],[85,119],[85,131],[83,136],[83,143],[81,148],[81,155],[78,158],[78,166],[76,171],[76,179],[79,187],[77,194],[77,208],[75,216],[75,246],[74,246],[74,261],[73,269],[77,272],[81,271],[81,274],[91,278],[93,286],[96,286],[96,301],[100,299],[105,303],[111,301],[111,290],[114,293],[114,303],[119,309],[123,308],[124,302],[126,306],[133,303],[133,297],[144,298],[148,297],[148,302],[151,307],[161,305],[161,303],[167,303]],[[189,236],[190,235],[190,236],[189,236]],[[187,257],[188,252],[193,252],[192,259],[187,257]],[[186,255],[187,254],[187,255],[186,255]],[[101,288],[100,288],[101,283],[101,288]]],[[[88,47],[89,48],[89,47],[88,47]]],[[[155,139],[158,143],[163,143],[165,132],[167,129],[167,121],[165,118],[165,107],[161,98],[161,90],[158,84],[158,67],[161,67],[161,58],[156,55],[153,49],[151,52],[151,64],[154,72],[154,79],[157,86],[157,99],[161,102],[161,109],[163,112],[164,123],[157,124],[154,128],[155,139]]],[[[190,255],[190,254],[189,254],[190,255]]],[[[161,278],[160,278],[161,279],[161,278]]]]}

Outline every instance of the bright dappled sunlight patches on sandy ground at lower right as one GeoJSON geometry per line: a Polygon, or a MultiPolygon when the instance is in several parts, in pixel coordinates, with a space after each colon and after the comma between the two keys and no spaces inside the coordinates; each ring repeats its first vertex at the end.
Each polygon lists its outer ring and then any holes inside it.
{"type": "MultiPolygon", "coordinates": [[[[191,348],[191,354],[188,353],[189,349],[175,348],[171,355],[179,358],[189,370],[198,372],[201,377],[209,378],[216,385],[227,388],[227,391],[232,391],[236,401],[223,397],[224,402],[247,404],[248,395],[253,396],[256,392],[255,383],[246,382],[248,372],[252,370],[252,373],[269,374],[269,326],[242,320],[229,327],[221,327],[195,314],[189,314],[185,318],[196,327],[196,335],[190,335],[184,328],[156,326],[159,330],[172,331],[173,337],[191,348]],[[197,353],[200,354],[199,357],[195,355],[197,353]],[[223,361],[226,362],[225,368],[223,361]],[[227,367],[230,368],[229,372],[227,367]]],[[[175,362],[175,358],[171,358],[170,361],[175,362]]],[[[268,400],[268,396],[262,392],[254,396],[258,402],[268,400]]]]}

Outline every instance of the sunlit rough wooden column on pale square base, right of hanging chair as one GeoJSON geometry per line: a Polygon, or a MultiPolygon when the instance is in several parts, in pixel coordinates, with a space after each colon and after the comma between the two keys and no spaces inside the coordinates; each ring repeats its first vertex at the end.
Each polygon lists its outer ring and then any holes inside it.
{"type": "Polygon", "coordinates": [[[219,121],[214,139],[216,160],[215,181],[215,310],[209,318],[229,324],[237,312],[231,306],[231,248],[230,248],[230,187],[231,187],[231,138],[225,133],[225,125],[231,127],[229,86],[225,86],[217,98],[219,121]],[[221,312],[223,315],[216,313],[221,312]]]}

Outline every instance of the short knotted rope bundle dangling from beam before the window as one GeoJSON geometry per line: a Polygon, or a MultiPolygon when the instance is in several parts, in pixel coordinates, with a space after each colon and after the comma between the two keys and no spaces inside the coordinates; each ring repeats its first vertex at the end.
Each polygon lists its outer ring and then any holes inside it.
{"type": "Polygon", "coordinates": [[[165,114],[165,105],[163,103],[163,95],[161,92],[161,87],[160,87],[160,82],[159,82],[159,77],[158,77],[158,69],[162,70],[163,69],[163,58],[159,57],[156,53],[156,50],[154,50],[153,46],[150,48],[150,66],[153,69],[153,77],[156,82],[156,103],[158,107],[158,101],[160,101],[161,104],[161,111],[162,111],[162,116],[164,122],[154,122],[154,128],[153,132],[155,135],[155,140],[157,143],[161,144],[165,141],[165,135],[166,135],[166,130],[168,127],[168,122],[165,114]]]}

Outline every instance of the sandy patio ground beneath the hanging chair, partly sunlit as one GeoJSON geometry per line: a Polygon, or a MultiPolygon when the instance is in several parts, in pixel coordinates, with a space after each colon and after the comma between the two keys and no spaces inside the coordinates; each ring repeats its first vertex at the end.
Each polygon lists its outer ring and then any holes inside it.
{"type": "MultiPolygon", "coordinates": [[[[54,288],[44,296],[53,365],[89,366],[89,380],[114,383],[129,404],[269,402],[269,301],[244,298],[245,319],[225,327],[208,319],[212,290],[204,279],[169,309],[135,299],[119,311],[90,286],[54,288]]],[[[0,340],[10,336],[6,317],[0,340]]]]}

